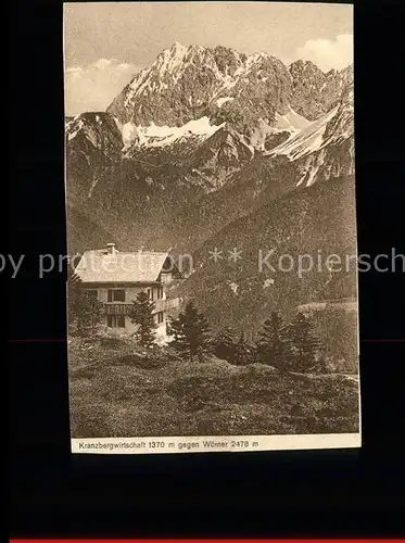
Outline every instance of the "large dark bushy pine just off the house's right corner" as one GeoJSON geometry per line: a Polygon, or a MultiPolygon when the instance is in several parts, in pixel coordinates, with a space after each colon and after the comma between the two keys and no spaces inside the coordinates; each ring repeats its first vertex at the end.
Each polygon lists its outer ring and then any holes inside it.
{"type": "Polygon", "coordinates": [[[208,323],[193,302],[188,302],[178,318],[169,321],[168,334],[173,337],[170,344],[180,353],[187,354],[190,362],[206,351],[210,344],[208,323]]]}

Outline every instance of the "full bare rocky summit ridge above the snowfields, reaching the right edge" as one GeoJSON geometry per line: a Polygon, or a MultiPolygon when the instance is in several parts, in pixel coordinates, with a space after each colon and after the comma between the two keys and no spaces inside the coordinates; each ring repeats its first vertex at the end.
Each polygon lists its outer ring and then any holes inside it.
{"type": "Polygon", "coordinates": [[[206,115],[249,137],[260,122],[273,126],[289,106],[309,121],[326,113],[347,72],[324,74],[312,62],[286,66],[265,52],[175,42],[136,74],[106,111],[129,126],[182,126],[206,115]]]}

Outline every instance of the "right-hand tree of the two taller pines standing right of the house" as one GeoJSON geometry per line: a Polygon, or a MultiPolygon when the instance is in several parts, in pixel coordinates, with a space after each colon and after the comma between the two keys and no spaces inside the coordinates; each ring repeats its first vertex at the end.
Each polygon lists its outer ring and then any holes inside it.
{"type": "Polygon", "coordinates": [[[289,339],[292,344],[291,369],[308,371],[316,366],[316,355],[320,352],[319,338],[308,317],[298,313],[289,326],[289,339]]]}

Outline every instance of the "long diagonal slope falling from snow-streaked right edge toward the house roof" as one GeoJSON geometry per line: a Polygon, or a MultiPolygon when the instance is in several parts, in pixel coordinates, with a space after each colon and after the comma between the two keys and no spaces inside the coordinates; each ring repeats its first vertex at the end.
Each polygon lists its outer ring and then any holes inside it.
{"type": "Polygon", "coordinates": [[[219,190],[182,209],[172,245],[190,250],[235,218],[306,186],[354,174],[353,86],[329,113],[255,156],[219,190]]]}

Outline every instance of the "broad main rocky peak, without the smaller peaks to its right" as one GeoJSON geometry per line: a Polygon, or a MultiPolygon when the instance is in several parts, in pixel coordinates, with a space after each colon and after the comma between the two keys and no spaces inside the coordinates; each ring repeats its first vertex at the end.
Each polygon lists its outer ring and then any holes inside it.
{"type": "MultiPolygon", "coordinates": [[[[148,125],[153,121],[180,126],[204,116],[208,109],[213,111],[214,104],[217,110],[226,103],[228,108],[230,99],[239,100],[242,91],[252,91],[252,83],[260,93],[267,79],[267,94],[275,89],[277,92],[271,102],[263,104],[264,115],[271,115],[273,110],[284,113],[292,81],[279,60],[266,53],[248,56],[225,47],[185,47],[175,42],[135,76],[107,112],[123,123],[148,125]]],[[[265,102],[267,94],[262,97],[265,102]]]]}

